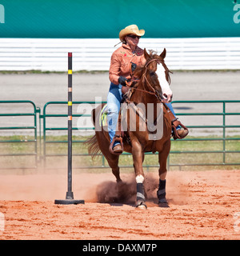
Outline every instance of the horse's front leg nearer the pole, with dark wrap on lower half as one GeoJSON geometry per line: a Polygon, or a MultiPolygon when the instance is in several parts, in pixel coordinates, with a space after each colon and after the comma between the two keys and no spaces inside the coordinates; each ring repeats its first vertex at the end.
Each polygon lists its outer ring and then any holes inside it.
{"type": "Polygon", "coordinates": [[[138,141],[132,142],[132,154],[134,158],[134,171],[137,182],[137,204],[140,209],[146,209],[146,198],[144,195],[143,182],[144,172],[142,168],[142,162],[144,154],[142,153],[142,146],[138,141]]]}

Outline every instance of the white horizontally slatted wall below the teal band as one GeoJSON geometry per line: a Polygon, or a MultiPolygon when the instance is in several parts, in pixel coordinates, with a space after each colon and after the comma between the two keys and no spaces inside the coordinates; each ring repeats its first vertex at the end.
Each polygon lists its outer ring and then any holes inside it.
{"type": "MultiPolygon", "coordinates": [[[[0,38],[0,70],[109,70],[110,56],[120,44],[111,39],[0,38]]],[[[139,46],[166,48],[170,70],[240,69],[240,38],[141,38],[139,46]]]]}

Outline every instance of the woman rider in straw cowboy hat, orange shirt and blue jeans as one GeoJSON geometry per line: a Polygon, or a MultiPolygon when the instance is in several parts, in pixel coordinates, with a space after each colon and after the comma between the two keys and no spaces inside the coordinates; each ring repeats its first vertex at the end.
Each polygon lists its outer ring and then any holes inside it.
{"type": "MultiPolygon", "coordinates": [[[[144,53],[138,47],[139,39],[145,34],[145,30],[138,30],[138,26],[130,25],[119,33],[119,39],[122,46],[119,47],[111,56],[109,78],[110,90],[107,95],[107,120],[110,142],[113,141],[116,127],[118,124],[118,114],[120,110],[120,102],[122,100],[122,86],[126,86],[127,79],[130,78],[131,70],[136,66],[143,66],[146,63],[144,53]]],[[[166,102],[170,102],[171,95],[166,96],[166,102]]],[[[174,114],[171,103],[166,103],[174,114]]],[[[175,114],[174,114],[175,115],[175,114]]],[[[177,128],[180,138],[185,138],[188,134],[187,130],[182,130],[180,126],[177,128]]],[[[113,145],[114,153],[122,153],[120,142],[115,141],[113,145]]]]}

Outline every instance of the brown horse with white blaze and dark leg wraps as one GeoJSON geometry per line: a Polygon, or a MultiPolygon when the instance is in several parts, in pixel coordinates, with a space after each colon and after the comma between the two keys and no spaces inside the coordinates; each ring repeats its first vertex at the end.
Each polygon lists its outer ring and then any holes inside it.
{"type": "MultiPolygon", "coordinates": [[[[134,82],[132,86],[130,86],[130,92],[128,92],[128,98],[125,104],[127,114],[122,118],[122,122],[126,123],[126,130],[123,136],[123,148],[124,151],[133,155],[134,172],[137,182],[136,206],[140,206],[140,208],[146,208],[146,198],[143,190],[144,172],[142,168],[144,153],[155,151],[158,151],[158,162],[160,165],[158,170],[158,202],[160,206],[167,206],[166,161],[170,153],[171,136],[170,117],[166,111],[166,107],[162,105],[162,89],[158,81],[158,75],[155,73],[157,68],[164,70],[162,75],[164,79],[166,79],[166,82],[170,83],[170,71],[164,62],[166,49],[164,49],[160,55],[154,54],[153,51],[150,51],[148,54],[145,49],[144,55],[146,64],[145,66],[138,66],[136,70],[134,70],[134,82]],[[145,110],[140,110],[141,107],[138,107],[138,104],[143,106],[142,109],[145,108],[145,110]],[[162,110],[162,112],[160,110],[162,110]],[[157,121],[160,125],[157,124],[157,121]],[[132,123],[134,123],[134,129],[130,129],[132,123]],[[155,130],[152,128],[153,126],[155,130]]],[[[101,150],[117,182],[121,182],[118,167],[119,155],[110,153],[109,134],[106,129],[99,127],[101,126],[99,124],[99,118],[102,106],[98,106],[92,111],[95,134],[94,137],[87,141],[89,144],[89,153],[97,154],[98,151],[101,150]]]]}

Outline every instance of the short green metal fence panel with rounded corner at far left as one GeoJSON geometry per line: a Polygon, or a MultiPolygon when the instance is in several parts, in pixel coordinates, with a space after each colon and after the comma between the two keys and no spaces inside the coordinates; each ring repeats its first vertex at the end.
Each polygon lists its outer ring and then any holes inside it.
{"type": "MultiPolygon", "coordinates": [[[[34,162],[32,166],[5,166],[4,163],[1,164],[0,169],[1,170],[6,170],[6,169],[36,169],[38,168],[38,138],[37,138],[37,114],[40,114],[40,108],[36,107],[34,102],[31,101],[0,101],[1,106],[5,105],[5,106],[15,106],[15,110],[18,110],[18,107],[21,106],[30,106],[31,110],[30,112],[17,112],[17,113],[0,113],[0,120],[4,117],[7,118],[13,118],[13,117],[33,117],[33,121],[31,122],[31,126],[19,126],[18,120],[11,120],[11,123],[14,123],[14,126],[4,126],[5,123],[0,121],[1,126],[0,126],[0,130],[8,130],[8,131],[13,131],[13,130],[28,130],[28,131],[33,131],[34,135],[30,136],[33,138],[22,138],[22,136],[15,136],[15,139],[8,139],[8,137],[5,136],[1,136],[1,140],[0,143],[2,145],[4,145],[2,147],[2,151],[4,152],[6,145],[10,145],[11,143],[18,143],[19,144],[26,144],[26,143],[30,143],[30,144],[34,144],[34,150],[32,152],[22,152],[21,153],[1,153],[0,157],[5,157],[5,158],[9,158],[12,157],[11,160],[9,160],[9,162],[16,162],[19,161],[20,157],[33,157],[34,158],[34,162]],[[5,139],[6,138],[6,139],[5,139]],[[18,157],[18,158],[17,158],[18,157]]],[[[12,138],[12,136],[10,136],[10,138],[12,138]]],[[[21,162],[21,161],[20,161],[21,162]]],[[[29,162],[28,162],[29,163],[29,162]]]]}

